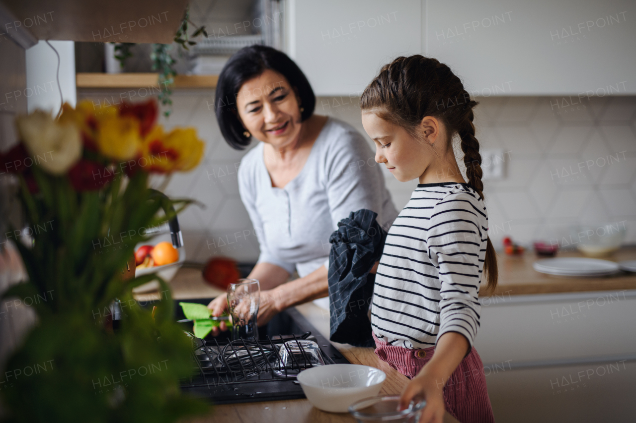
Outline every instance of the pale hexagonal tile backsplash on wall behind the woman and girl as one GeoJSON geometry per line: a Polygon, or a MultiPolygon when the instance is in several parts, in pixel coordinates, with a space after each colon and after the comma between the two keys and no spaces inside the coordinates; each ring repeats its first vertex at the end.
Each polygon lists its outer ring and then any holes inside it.
{"type": "MultiPolygon", "coordinates": [[[[118,90],[78,92],[80,98],[118,98],[118,90]]],[[[239,198],[237,168],[244,151],[231,149],[214,118],[212,90],[176,90],[170,126],[195,126],[206,142],[205,158],[190,173],[175,175],[166,192],[197,199],[179,216],[188,260],[212,255],[239,261],[258,258],[258,241],[239,198]]],[[[490,238],[504,236],[530,246],[562,242],[577,223],[625,225],[626,244],[636,243],[636,97],[583,99],[481,97],[475,109],[483,148],[504,151],[506,177],[486,180],[490,238]]],[[[358,98],[317,98],[316,112],[352,124],[363,135],[358,98]]],[[[371,145],[371,141],[369,140],[371,145]]],[[[417,181],[397,182],[387,172],[396,207],[417,181]]]]}

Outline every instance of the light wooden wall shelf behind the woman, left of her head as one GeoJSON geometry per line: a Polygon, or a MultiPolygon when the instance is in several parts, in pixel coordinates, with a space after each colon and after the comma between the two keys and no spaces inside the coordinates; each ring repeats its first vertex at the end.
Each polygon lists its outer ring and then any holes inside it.
{"type": "MultiPolygon", "coordinates": [[[[216,88],[218,75],[177,75],[171,88],[216,88]]],[[[77,88],[141,88],[158,86],[158,74],[79,73],[77,88]]]]}

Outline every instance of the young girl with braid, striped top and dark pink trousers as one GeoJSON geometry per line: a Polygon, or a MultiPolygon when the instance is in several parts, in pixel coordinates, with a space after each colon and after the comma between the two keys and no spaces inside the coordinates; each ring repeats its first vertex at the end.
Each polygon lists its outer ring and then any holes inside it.
{"type": "Polygon", "coordinates": [[[473,341],[480,326],[480,281],[497,286],[488,239],[477,102],[438,60],[396,58],[361,98],[375,161],[401,182],[419,179],[389,230],[375,278],[371,325],[376,354],[411,379],[401,396],[427,405],[422,423],[445,409],[462,423],[494,422],[483,364],[473,341]],[[452,139],[464,152],[467,182],[452,139]]]}

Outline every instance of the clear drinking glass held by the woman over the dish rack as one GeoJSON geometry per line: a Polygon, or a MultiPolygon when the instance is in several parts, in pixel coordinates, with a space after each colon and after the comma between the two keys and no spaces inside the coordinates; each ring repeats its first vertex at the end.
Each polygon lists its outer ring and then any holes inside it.
{"type": "Polygon", "coordinates": [[[256,317],[261,304],[261,286],[256,279],[239,279],[228,286],[228,309],[232,316],[232,340],[258,340],[256,317]]]}

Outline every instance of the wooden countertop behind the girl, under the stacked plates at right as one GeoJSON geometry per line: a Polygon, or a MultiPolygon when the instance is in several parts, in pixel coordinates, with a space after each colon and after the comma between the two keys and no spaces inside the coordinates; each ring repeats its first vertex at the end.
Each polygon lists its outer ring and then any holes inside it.
{"type": "MultiPolygon", "coordinates": [[[[559,252],[556,257],[583,257],[583,255],[578,252],[559,252]]],[[[534,252],[526,252],[518,257],[497,253],[499,286],[494,295],[636,289],[636,273],[621,272],[602,278],[551,276],[539,273],[532,268],[532,263],[541,258],[543,257],[537,256],[534,252]]],[[[636,247],[623,247],[609,257],[602,258],[614,262],[636,260],[636,247]]],[[[485,291],[485,286],[482,284],[481,292],[485,291]]]]}

